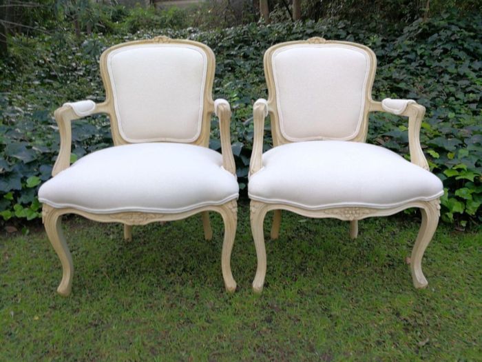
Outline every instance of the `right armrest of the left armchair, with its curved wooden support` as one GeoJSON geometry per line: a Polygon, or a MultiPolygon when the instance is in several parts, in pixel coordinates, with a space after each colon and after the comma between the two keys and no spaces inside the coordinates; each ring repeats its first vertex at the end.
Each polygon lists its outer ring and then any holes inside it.
{"type": "Polygon", "coordinates": [[[236,174],[233,150],[231,149],[231,107],[226,99],[216,99],[214,101],[214,114],[219,119],[219,130],[221,138],[222,167],[224,170],[236,174]]]}

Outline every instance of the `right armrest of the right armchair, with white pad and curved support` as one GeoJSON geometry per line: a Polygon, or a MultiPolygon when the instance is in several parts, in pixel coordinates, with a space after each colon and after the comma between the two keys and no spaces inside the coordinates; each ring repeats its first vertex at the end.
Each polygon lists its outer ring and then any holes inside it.
{"type": "Polygon", "coordinates": [[[408,148],[410,160],[425,170],[429,170],[427,159],[420,145],[420,128],[425,115],[425,107],[412,99],[390,99],[372,101],[370,111],[381,111],[408,117],[408,148]]]}

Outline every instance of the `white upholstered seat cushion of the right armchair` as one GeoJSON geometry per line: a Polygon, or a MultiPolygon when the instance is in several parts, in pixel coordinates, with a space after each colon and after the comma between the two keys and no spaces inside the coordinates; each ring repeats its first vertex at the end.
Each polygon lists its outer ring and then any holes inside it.
{"type": "Polygon", "coordinates": [[[345,206],[393,208],[443,194],[438,177],[376,145],[305,141],[263,154],[249,179],[249,197],[308,210],[345,206]]]}

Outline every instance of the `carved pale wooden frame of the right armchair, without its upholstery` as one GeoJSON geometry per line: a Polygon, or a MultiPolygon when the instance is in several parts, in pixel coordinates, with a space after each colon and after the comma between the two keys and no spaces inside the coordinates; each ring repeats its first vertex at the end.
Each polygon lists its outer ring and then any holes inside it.
{"type": "MultiPolygon", "coordinates": [[[[253,123],[254,123],[254,140],[253,153],[251,154],[251,162],[249,174],[255,174],[262,168],[262,147],[263,147],[263,133],[264,133],[264,119],[269,114],[271,118],[271,133],[273,136],[273,146],[291,143],[286,139],[280,130],[280,121],[277,113],[275,83],[273,80],[273,68],[271,58],[273,52],[284,46],[291,46],[295,44],[346,44],[361,48],[370,57],[370,70],[368,74],[368,86],[365,94],[365,107],[362,125],[359,132],[355,134],[353,139],[348,141],[365,142],[368,133],[368,115],[369,112],[387,112],[382,108],[381,102],[373,101],[371,96],[371,88],[375,78],[375,70],[377,68],[377,59],[375,53],[370,48],[362,46],[361,44],[351,43],[348,41],[328,41],[323,38],[313,37],[306,41],[289,41],[272,46],[266,50],[264,54],[264,74],[268,86],[269,98],[268,101],[259,99],[253,106],[253,123]]],[[[429,170],[428,162],[423,154],[420,145],[420,128],[425,114],[425,107],[417,103],[410,103],[407,105],[404,112],[399,115],[408,117],[408,143],[410,149],[410,159],[412,163],[419,165],[425,170],[429,170]]],[[[322,139],[322,137],[320,137],[322,139]]],[[[251,230],[253,232],[253,239],[258,257],[258,268],[256,270],[255,279],[253,281],[253,290],[255,292],[262,292],[264,285],[264,277],[266,276],[266,249],[264,246],[264,232],[263,224],[266,213],[273,210],[273,224],[271,227],[271,239],[277,239],[280,233],[281,225],[281,210],[288,210],[300,214],[304,217],[313,218],[335,218],[344,221],[350,221],[350,237],[355,239],[358,235],[358,221],[367,217],[381,217],[396,214],[408,208],[419,208],[421,210],[421,227],[415,245],[412,249],[412,256],[410,258],[410,271],[412,273],[413,285],[415,288],[426,288],[428,285],[427,279],[421,270],[421,260],[423,252],[425,252],[432,236],[437,229],[440,217],[440,199],[432,201],[411,201],[397,208],[377,209],[377,208],[362,208],[362,207],[346,207],[346,208],[327,208],[323,210],[306,210],[297,208],[292,205],[282,203],[264,203],[261,201],[251,200],[251,230]]]]}

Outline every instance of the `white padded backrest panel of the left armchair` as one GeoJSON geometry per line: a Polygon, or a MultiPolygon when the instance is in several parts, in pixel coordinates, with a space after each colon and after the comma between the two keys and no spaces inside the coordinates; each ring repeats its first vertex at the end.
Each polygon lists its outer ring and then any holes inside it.
{"type": "Polygon", "coordinates": [[[207,56],[185,44],[123,46],[107,71],[121,136],[130,143],[192,142],[201,130],[207,56]]]}

